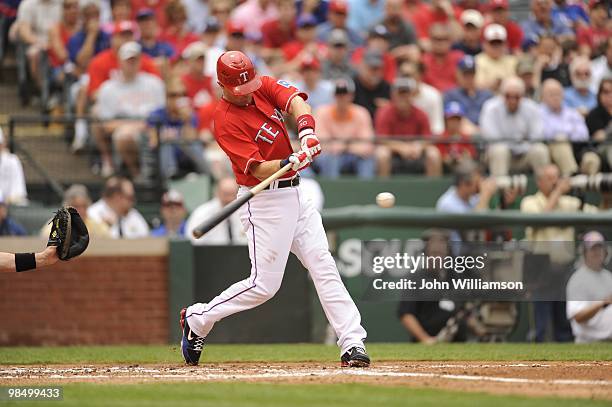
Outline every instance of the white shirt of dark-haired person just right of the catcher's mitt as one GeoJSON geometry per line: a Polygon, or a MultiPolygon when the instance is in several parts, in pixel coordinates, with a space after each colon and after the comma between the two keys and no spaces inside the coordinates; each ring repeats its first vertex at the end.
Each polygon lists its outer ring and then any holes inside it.
{"type": "Polygon", "coordinates": [[[130,209],[126,216],[119,219],[106,201],[100,199],[87,209],[87,216],[97,222],[109,225],[111,237],[115,239],[138,239],[149,235],[147,221],[134,208],[130,209]]]}

